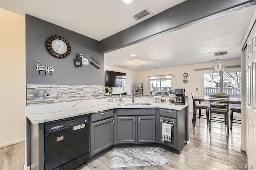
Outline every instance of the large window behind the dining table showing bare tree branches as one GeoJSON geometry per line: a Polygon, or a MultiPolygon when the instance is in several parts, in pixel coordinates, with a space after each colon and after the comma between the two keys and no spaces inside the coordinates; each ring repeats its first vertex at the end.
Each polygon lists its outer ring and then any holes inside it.
{"type": "Polygon", "coordinates": [[[241,72],[204,74],[204,95],[223,91],[230,97],[241,97],[241,72]]]}

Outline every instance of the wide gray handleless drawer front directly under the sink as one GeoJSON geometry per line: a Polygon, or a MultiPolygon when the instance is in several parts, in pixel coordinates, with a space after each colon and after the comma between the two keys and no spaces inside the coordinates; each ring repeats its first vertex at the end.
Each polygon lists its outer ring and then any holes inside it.
{"type": "Polygon", "coordinates": [[[118,109],[118,116],[156,115],[155,109],[118,109]]]}

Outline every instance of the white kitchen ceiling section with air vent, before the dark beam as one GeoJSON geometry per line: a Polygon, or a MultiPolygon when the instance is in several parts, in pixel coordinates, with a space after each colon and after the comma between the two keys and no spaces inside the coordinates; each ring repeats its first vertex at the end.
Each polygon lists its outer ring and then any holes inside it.
{"type": "Polygon", "coordinates": [[[0,7],[29,14],[95,40],[102,40],[139,22],[134,14],[147,7],[154,15],[184,0],[1,0],[0,7]]]}

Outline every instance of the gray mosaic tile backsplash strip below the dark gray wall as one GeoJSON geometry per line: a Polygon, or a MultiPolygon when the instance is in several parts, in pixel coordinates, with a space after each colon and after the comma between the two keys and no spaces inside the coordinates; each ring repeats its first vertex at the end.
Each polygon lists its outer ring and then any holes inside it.
{"type": "Polygon", "coordinates": [[[42,105],[67,101],[99,99],[102,98],[104,94],[105,91],[103,85],[28,84],[27,105],[42,105]],[[58,91],[62,91],[62,98],[58,98],[58,91]],[[33,92],[39,92],[39,99],[33,99],[33,92]],[[46,99],[44,99],[44,92],[49,93],[49,96],[46,99]]]}

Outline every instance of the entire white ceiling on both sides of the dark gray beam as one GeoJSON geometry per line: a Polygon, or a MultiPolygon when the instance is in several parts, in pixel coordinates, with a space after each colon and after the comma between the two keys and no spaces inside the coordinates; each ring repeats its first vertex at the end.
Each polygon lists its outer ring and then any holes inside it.
{"type": "MultiPolygon", "coordinates": [[[[137,24],[132,16],[145,7],[154,16],[183,1],[134,0],[124,4],[122,0],[0,0],[0,7],[102,40],[137,24]]],[[[238,59],[255,11],[256,6],[252,6],[106,53],[104,65],[130,70],[189,65],[209,62],[219,51],[228,51],[226,59],[238,59]],[[141,64],[133,65],[135,60],[141,64]]]]}

